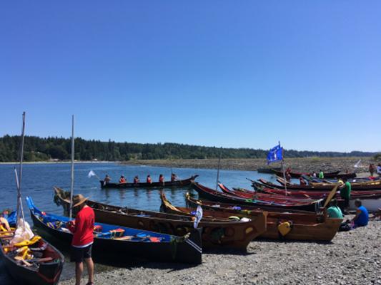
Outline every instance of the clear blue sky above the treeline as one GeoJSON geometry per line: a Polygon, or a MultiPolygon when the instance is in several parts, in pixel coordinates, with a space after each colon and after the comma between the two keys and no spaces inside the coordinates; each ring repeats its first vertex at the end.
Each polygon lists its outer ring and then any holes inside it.
{"type": "Polygon", "coordinates": [[[2,1],[0,135],[381,150],[381,2],[2,1]]]}

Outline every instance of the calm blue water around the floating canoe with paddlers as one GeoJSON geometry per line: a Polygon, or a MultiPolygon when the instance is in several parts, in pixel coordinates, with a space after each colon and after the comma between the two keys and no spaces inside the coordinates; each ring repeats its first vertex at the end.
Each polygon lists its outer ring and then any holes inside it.
{"type": "MultiPolygon", "coordinates": [[[[144,181],[147,174],[150,174],[153,181],[157,181],[160,174],[170,179],[171,170],[167,167],[148,167],[148,166],[127,166],[116,163],[81,163],[75,165],[74,193],[81,193],[85,197],[90,197],[98,202],[107,204],[116,204],[119,206],[128,206],[138,209],[149,209],[159,211],[161,204],[159,190],[149,189],[127,189],[102,190],[97,177],[88,178],[87,174],[93,170],[99,177],[103,178],[108,174],[112,181],[119,180],[120,175],[124,175],[131,182],[135,175],[139,175],[141,181],[144,181]]],[[[198,174],[197,182],[201,182],[209,187],[215,187],[217,170],[204,170],[192,168],[174,168],[173,171],[179,179],[188,178],[191,175],[198,174]]],[[[259,178],[257,172],[252,171],[234,171],[221,170],[219,180],[228,187],[245,187],[250,189],[250,183],[247,178],[255,180],[259,178]]],[[[274,180],[272,175],[260,174],[267,180],[274,180]]],[[[16,185],[14,180],[14,165],[0,165],[0,210],[16,209],[16,185]]],[[[39,209],[44,212],[54,214],[63,214],[62,207],[57,207],[53,202],[53,187],[58,186],[64,190],[70,189],[70,165],[69,164],[33,164],[24,165],[23,177],[21,183],[22,195],[31,196],[39,209]]],[[[166,195],[169,201],[178,206],[185,206],[184,194],[189,189],[167,189],[166,195]]],[[[31,223],[29,211],[24,202],[24,212],[26,220],[31,223]]],[[[1,262],[1,261],[0,261],[1,262]]],[[[69,272],[72,264],[66,263],[64,270],[69,272]]],[[[98,267],[99,268],[99,267],[98,267]]],[[[63,274],[63,279],[66,276],[63,274]]],[[[66,274],[67,275],[67,274],[66,274]]],[[[0,263],[0,284],[14,284],[10,277],[4,271],[4,266],[0,263]]]]}

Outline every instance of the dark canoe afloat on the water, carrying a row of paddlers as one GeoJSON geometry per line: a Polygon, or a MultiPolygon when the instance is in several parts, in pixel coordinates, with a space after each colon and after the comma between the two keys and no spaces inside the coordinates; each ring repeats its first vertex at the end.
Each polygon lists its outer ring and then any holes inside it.
{"type": "Polygon", "coordinates": [[[99,180],[102,188],[152,188],[152,187],[187,187],[192,184],[192,182],[199,175],[193,175],[188,179],[184,180],[175,180],[175,181],[166,181],[162,182],[139,182],[139,183],[104,183],[104,180],[99,180]]]}

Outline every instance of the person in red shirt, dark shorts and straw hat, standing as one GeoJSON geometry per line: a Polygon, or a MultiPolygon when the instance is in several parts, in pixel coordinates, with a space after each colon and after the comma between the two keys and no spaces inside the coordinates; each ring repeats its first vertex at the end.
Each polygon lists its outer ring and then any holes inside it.
{"type": "Polygon", "coordinates": [[[89,282],[86,285],[93,285],[94,263],[91,259],[91,249],[94,242],[93,230],[95,214],[91,207],[86,205],[83,195],[79,194],[73,198],[73,208],[78,209],[75,221],[69,221],[67,228],[73,233],[71,240],[70,261],[76,263],[76,285],[81,284],[81,277],[86,263],[89,282]]]}

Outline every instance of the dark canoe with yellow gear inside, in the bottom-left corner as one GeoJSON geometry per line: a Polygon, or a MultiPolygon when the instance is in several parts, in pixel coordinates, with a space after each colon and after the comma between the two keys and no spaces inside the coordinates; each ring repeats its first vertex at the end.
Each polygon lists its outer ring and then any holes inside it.
{"type": "MultiPolygon", "coordinates": [[[[55,285],[59,282],[64,256],[58,249],[39,239],[29,247],[32,255],[38,258],[25,261],[14,259],[14,252],[9,245],[14,232],[0,232],[0,258],[3,260],[6,271],[14,278],[17,284],[25,285],[55,285]]],[[[20,247],[19,247],[20,248],[20,247]]]]}

